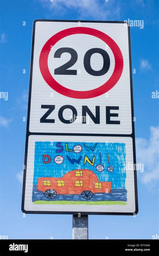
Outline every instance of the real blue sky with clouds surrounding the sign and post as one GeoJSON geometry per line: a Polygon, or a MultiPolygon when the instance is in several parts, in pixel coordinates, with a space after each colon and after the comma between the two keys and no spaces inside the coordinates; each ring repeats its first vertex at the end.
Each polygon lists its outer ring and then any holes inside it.
{"type": "Polygon", "coordinates": [[[158,0],[1,0],[1,228],[9,239],[71,239],[71,215],[26,215],[21,212],[32,25],[35,19],[144,20],[131,27],[132,67],[139,213],[133,216],[89,216],[90,239],[151,239],[158,230],[158,0]],[[22,22],[26,26],[22,26],[22,22]],[[23,74],[22,70],[26,69],[23,74]],[[46,229],[41,228],[49,223],[46,229]]]}

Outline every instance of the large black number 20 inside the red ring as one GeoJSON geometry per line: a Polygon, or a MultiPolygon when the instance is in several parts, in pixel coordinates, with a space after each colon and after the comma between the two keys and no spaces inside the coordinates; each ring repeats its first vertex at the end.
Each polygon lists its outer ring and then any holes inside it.
{"type": "MultiPolygon", "coordinates": [[[[60,58],[63,53],[69,53],[71,55],[71,58],[67,63],[56,68],[54,70],[54,74],[55,75],[76,75],[77,70],[73,70],[73,69],[68,70],[68,68],[72,67],[76,63],[78,59],[77,52],[72,48],[62,47],[55,52],[54,58],[60,58]]],[[[100,76],[100,75],[106,74],[110,67],[110,58],[108,53],[105,50],[100,48],[92,48],[88,50],[84,56],[84,67],[87,73],[89,73],[90,75],[100,76]],[[91,56],[94,53],[99,53],[103,57],[103,67],[101,70],[94,70],[91,67],[91,56]]]]}

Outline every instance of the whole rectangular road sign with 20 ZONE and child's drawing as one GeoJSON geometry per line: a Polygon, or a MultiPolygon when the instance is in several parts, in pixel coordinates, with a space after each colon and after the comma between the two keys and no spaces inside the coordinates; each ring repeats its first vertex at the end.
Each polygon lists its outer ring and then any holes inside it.
{"type": "Polygon", "coordinates": [[[138,212],[130,31],[33,24],[22,211],[138,212]]]}

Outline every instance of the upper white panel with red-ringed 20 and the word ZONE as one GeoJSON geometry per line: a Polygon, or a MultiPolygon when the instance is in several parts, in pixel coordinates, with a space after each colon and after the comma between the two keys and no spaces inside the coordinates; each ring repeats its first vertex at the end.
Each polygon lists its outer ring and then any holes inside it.
{"type": "Polygon", "coordinates": [[[127,24],[36,22],[29,131],[132,133],[127,24]]]}

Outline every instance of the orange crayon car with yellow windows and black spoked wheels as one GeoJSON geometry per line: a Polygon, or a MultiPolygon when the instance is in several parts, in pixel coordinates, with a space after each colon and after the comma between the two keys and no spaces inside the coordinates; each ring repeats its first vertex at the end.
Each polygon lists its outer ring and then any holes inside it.
{"type": "Polygon", "coordinates": [[[65,173],[62,178],[38,178],[37,190],[42,191],[49,199],[61,194],[81,194],[89,200],[94,193],[110,193],[111,185],[111,182],[99,181],[91,170],[78,169],[65,173]]]}

